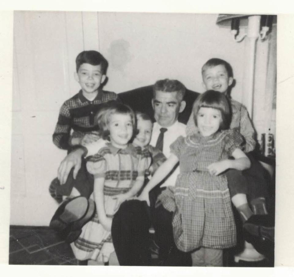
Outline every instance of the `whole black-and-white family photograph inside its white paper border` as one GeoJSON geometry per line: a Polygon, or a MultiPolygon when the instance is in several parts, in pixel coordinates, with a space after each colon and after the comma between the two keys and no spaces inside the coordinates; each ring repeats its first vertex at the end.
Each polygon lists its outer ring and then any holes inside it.
{"type": "Polygon", "coordinates": [[[275,264],[276,14],[13,12],[9,264],[275,264]]]}

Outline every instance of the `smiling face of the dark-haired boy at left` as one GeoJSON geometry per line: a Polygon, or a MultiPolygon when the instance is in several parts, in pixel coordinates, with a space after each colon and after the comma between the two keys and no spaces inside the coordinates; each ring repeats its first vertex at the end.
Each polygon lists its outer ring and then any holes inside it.
{"type": "Polygon", "coordinates": [[[79,82],[83,93],[97,92],[100,84],[104,82],[105,75],[102,74],[101,65],[81,64],[79,70],[75,72],[75,79],[79,82]]]}

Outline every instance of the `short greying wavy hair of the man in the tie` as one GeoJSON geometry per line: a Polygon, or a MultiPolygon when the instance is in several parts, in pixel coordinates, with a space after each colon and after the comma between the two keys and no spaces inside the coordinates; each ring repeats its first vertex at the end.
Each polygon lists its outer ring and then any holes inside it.
{"type": "Polygon", "coordinates": [[[157,81],[153,85],[153,97],[154,98],[155,98],[156,91],[177,92],[177,96],[178,96],[179,101],[182,101],[185,96],[185,93],[186,93],[186,88],[178,80],[164,79],[164,80],[157,81]]]}

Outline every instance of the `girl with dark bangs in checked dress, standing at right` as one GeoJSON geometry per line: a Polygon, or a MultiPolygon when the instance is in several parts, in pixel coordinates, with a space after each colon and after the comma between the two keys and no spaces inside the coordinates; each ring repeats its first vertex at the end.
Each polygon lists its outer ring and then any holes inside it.
{"type": "Polygon", "coordinates": [[[156,171],[140,199],[179,162],[180,173],[174,188],[166,189],[157,200],[174,212],[175,244],[192,253],[193,265],[222,265],[222,249],[236,244],[236,227],[225,174],[229,168],[247,169],[250,160],[241,150],[243,138],[228,130],[230,107],[226,97],[209,90],[193,107],[198,133],[179,137],[171,144],[171,156],[156,171]],[[228,159],[228,157],[235,159],[228,159]]]}

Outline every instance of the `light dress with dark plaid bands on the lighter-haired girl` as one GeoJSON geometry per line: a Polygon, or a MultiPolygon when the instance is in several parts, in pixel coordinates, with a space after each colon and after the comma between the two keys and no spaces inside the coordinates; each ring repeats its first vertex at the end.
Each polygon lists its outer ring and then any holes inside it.
{"type": "MultiPolygon", "coordinates": [[[[107,217],[115,213],[117,194],[126,193],[138,176],[144,176],[151,162],[150,154],[140,147],[129,145],[126,149],[115,148],[111,144],[101,148],[89,157],[87,169],[94,178],[104,177],[104,208],[107,217]]],[[[91,195],[93,199],[93,194],[91,195]]],[[[80,237],[71,247],[78,260],[97,260],[107,262],[114,252],[111,232],[100,224],[97,212],[83,228],[80,237]]]]}

